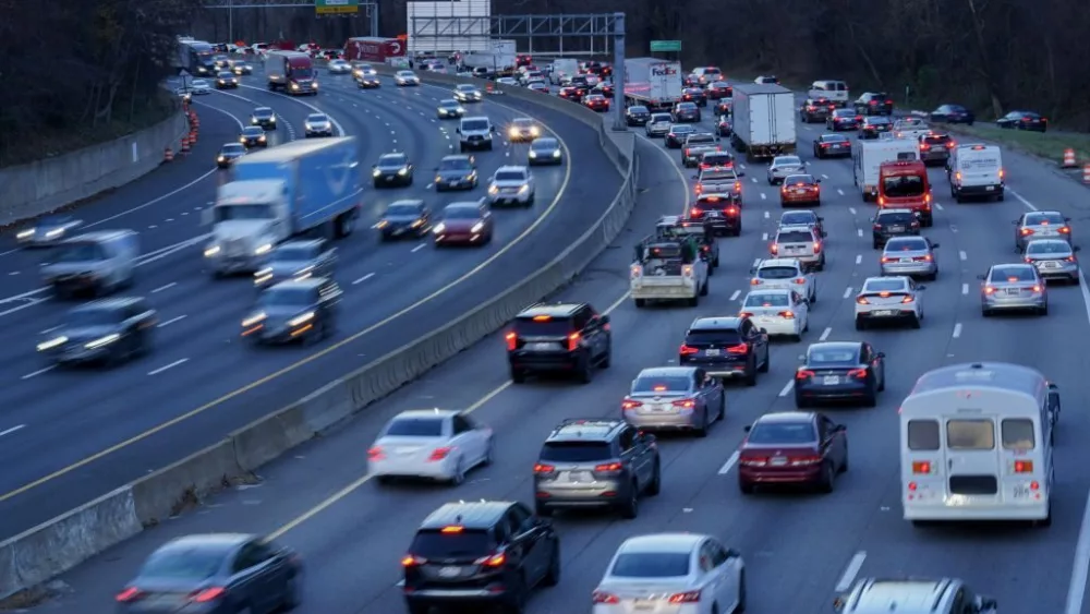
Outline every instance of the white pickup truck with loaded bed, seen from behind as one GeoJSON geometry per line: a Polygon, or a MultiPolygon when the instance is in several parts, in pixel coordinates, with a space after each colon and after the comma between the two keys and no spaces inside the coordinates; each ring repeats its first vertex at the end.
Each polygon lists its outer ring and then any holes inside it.
{"type": "Polygon", "coordinates": [[[647,301],[685,301],[697,306],[700,297],[707,296],[708,263],[692,245],[653,240],[637,246],[629,282],[637,308],[647,301]]]}

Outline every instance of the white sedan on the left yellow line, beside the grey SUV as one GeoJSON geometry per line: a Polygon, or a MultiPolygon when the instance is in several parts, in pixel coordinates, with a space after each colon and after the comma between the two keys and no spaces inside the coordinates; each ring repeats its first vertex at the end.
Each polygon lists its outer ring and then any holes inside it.
{"type": "Polygon", "coordinates": [[[471,469],[492,462],[492,429],[464,412],[410,410],[386,424],[367,450],[367,465],[379,481],[423,478],[457,485],[471,469]]]}

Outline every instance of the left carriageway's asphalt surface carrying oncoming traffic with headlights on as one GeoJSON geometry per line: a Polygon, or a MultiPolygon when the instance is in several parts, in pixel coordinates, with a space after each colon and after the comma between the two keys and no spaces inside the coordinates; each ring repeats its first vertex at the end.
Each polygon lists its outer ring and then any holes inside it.
{"type": "MultiPolygon", "coordinates": [[[[496,240],[489,245],[440,254],[428,241],[379,244],[371,227],[390,202],[424,198],[438,212],[449,202],[476,200],[498,166],[524,164],[528,147],[497,141],[496,151],[476,155],[481,186],[435,195],[432,169],[441,156],[457,153],[457,141],[450,140],[453,122],[433,119],[436,101],[449,93],[429,86],[398,89],[391,82],[364,92],[349,76],[323,75],[323,83],[316,97],[290,98],[267,92],[258,74],[244,77],[239,89],[196,97],[206,118],[199,145],[205,149],[194,156],[205,156],[210,168],[218,145],[237,139],[238,128],[228,116],[249,121],[256,106],[270,106],[281,118],[277,141],[302,137],[304,118],[315,110],[328,112],[340,130],[358,136],[368,177],[358,231],[338,248],[336,278],[346,296],[336,338],[306,349],[254,349],[239,342],[240,317],[256,296],[252,281],[213,280],[201,256],[206,230],[199,226],[199,210],[210,204],[225,173],[180,190],[153,174],[137,193],[175,193],[126,213],[135,206],[134,196],[123,189],[118,194],[128,201],[117,203],[111,196],[80,210],[87,221],[101,220],[96,228],[141,232],[143,251],[152,255],[137,269],[132,293],[148,297],[158,310],[156,348],[113,370],[49,369],[34,356],[36,337],[59,324],[68,305],[36,302],[43,293],[26,294],[38,286],[27,279],[33,270],[0,277],[13,281],[0,294],[23,294],[11,304],[28,305],[9,310],[0,332],[0,364],[8,377],[0,393],[0,463],[8,468],[0,477],[0,537],[179,460],[479,305],[559,253],[578,236],[572,229],[596,219],[619,185],[597,134],[584,124],[518,100],[485,101],[471,112],[486,113],[500,127],[514,117],[538,118],[564,142],[568,162],[535,169],[536,205],[498,210],[496,240]],[[414,185],[371,189],[370,166],[396,149],[415,162],[414,185]],[[577,167],[582,172],[572,173],[577,167]],[[27,282],[17,286],[15,280],[27,282]]],[[[36,255],[5,257],[25,269],[36,255]]],[[[7,261],[0,261],[3,265],[7,261]]]]}

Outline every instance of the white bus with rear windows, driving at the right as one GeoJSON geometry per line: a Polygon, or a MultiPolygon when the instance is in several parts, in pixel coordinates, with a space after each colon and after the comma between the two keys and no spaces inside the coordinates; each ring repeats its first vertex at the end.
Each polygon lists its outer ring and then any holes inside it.
{"type": "Polygon", "coordinates": [[[936,369],[899,413],[906,520],[1052,522],[1059,389],[1041,373],[998,362],[936,369]]]}

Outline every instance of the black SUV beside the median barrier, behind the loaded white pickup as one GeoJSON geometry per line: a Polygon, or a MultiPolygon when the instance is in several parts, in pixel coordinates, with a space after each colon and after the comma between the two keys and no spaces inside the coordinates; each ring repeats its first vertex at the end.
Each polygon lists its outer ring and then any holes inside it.
{"type": "Polygon", "coordinates": [[[586,303],[538,303],[514,317],[507,332],[511,381],[541,372],[572,373],[582,383],[594,366],[609,368],[613,344],[609,316],[586,303]]]}

